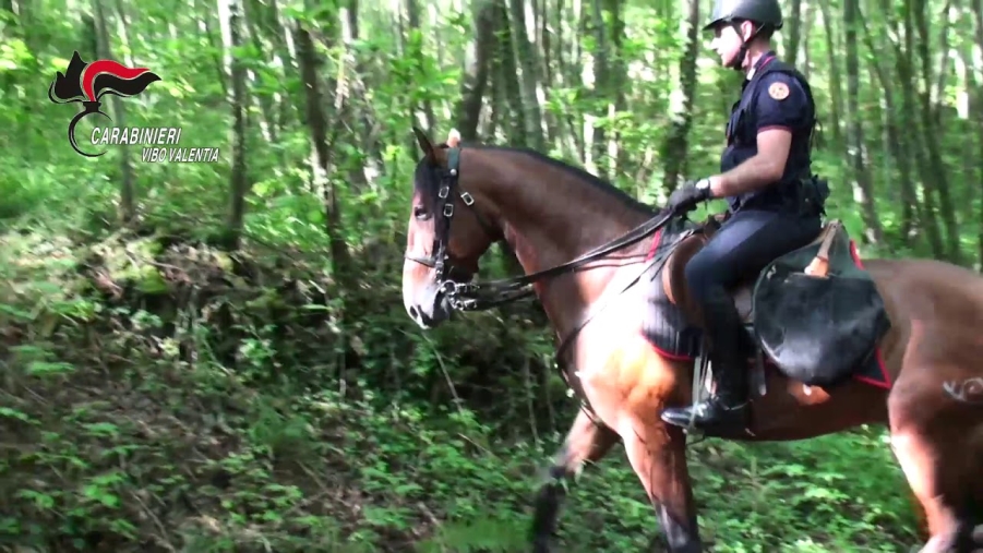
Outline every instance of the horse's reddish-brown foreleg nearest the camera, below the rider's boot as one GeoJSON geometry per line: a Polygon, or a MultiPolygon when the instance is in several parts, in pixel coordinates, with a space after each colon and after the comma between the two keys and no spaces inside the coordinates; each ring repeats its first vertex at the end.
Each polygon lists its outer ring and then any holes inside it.
{"type": "Polygon", "coordinates": [[[686,465],[686,437],[661,421],[634,420],[622,433],[625,452],[659,515],[671,553],[703,550],[686,465]]]}

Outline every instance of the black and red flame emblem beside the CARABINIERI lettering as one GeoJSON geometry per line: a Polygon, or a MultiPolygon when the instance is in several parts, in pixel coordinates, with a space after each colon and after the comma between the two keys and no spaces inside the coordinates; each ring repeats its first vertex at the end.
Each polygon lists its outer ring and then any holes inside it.
{"type": "MultiPolygon", "coordinates": [[[[48,87],[48,99],[55,104],[82,103],[83,110],[69,122],[69,142],[79,154],[85,157],[99,157],[106,152],[87,154],[79,148],[75,141],[75,125],[79,121],[92,115],[100,115],[112,121],[112,118],[101,110],[103,96],[115,94],[121,98],[129,98],[142,93],[157,81],[160,81],[160,77],[147,68],[128,68],[112,60],[87,63],[82,61],[76,50],[64,74],[59,71],[48,87]]],[[[118,134],[118,130],[116,131],[113,134],[118,134]]],[[[93,143],[96,142],[95,136],[94,131],[93,143]]]]}

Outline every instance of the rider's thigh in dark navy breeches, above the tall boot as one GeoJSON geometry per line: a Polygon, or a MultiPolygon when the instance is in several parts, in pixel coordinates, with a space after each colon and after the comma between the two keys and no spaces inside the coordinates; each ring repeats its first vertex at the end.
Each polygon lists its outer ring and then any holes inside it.
{"type": "Polygon", "coordinates": [[[724,296],[742,278],[810,243],[820,228],[818,216],[739,209],[686,264],[691,296],[700,304],[724,296]]]}

